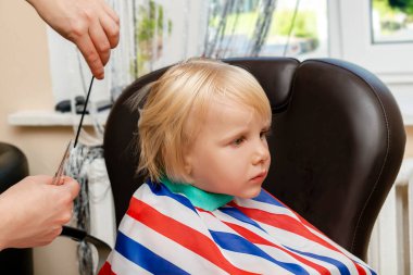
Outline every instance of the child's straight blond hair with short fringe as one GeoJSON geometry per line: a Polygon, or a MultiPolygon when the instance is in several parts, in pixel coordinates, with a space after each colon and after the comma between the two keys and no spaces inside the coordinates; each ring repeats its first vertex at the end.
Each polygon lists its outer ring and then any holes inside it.
{"type": "MultiPolygon", "coordinates": [[[[189,150],[203,115],[217,97],[251,107],[270,122],[272,118],[268,99],[256,79],[243,68],[221,61],[182,62],[170,67],[147,89],[145,105],[139,110],[137,172],[145,172],[153,182],[163,176],[185,182],[185,150],[189,150]],[[188,123],[189,117],[191,123],[188,123]]],[[[138,104],[133,103],[135,108],[138,104]]]]}

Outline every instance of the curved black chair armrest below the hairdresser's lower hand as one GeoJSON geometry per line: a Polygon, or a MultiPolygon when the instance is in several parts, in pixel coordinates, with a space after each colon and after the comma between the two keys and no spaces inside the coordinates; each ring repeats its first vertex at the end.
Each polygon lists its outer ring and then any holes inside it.
{"type": "Polygon", "coordinates": [[[63,230],[60,234],[62,237],[68,237],[72,238],[75,241],[86,241],[88,243],[91,243],[96,247],[98,251],[98,268],[97,271],[100,271],[102,265],[108,259],[109,253],[112,251],[112,248],[104,241],[88,235],[86,232],[82,229],[77,229],[70,226],[63,226],[63,230]]]}

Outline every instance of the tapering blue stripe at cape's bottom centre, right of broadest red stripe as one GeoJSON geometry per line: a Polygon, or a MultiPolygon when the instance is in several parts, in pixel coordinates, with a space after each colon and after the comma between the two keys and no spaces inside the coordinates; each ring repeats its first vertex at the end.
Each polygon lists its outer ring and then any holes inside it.
{"type": "Polygon", "coordinates": [[[265,260],[268,260],[283,268],[293,273],[293,274],[309,274],[303,267],[301,267],[298,264],[295,263],[285,263],[275,260],[267,253],[265,253],[263,250],[261,250],[255,245],[251,243],[250,241],[246,240],[245,238],[237,236],[235,234],[230,233],[223,233],[223,232],[213,232],[210,230],[212,238],[215,240],[215,242],[223,249],[238,252],[238,253],[245,253],[245,254],[252,254],[256,257],[261,257],[265,260]]]}

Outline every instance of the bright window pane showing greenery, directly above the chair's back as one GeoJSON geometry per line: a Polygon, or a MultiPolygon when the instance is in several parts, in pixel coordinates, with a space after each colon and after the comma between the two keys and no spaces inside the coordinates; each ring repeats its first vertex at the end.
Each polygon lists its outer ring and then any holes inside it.
{"type": "Polygon", "coordinates": [[[326,57],[325,0],[210,1],[203,54],[326,57]]]}

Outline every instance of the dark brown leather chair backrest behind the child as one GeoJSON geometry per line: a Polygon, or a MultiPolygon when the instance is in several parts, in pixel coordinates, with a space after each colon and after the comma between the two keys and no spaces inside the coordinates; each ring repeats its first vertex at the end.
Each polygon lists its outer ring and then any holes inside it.
{"type": "MultiPolygon", "coordinates": [[[[333,240],[365,259],[377,214],[398,174],[405,133],[388,88],[372,73],[333,60],[225,60],[260,82],[273,109],[272,165],[264,188],[333,240]]],[[[166,68],[133,83],[107,122],[104,154],[117,223],[133,192],[130,145],[138,114],[125,101],[166,68]]]]}

